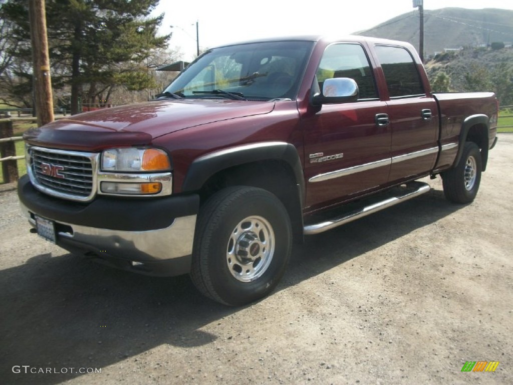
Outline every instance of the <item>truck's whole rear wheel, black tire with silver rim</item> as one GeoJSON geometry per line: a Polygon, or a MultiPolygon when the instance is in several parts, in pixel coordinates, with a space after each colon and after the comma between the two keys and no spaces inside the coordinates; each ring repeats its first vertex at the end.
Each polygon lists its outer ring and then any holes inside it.
{"type": "Polygon", "coordinates": [[[465,142],[456,167],[442,173],[445,198],[453,203],[470,203],[481,183],[481,152],[476,143],[465,142]]]}

